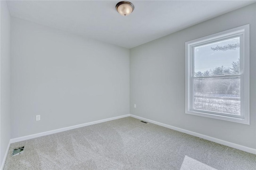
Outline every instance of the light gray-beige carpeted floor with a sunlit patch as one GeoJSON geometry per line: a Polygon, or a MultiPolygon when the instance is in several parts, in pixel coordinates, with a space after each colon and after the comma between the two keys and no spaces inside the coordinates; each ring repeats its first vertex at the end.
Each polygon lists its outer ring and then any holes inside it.
{"type": "Polygon", "coordinates": [[[125,117],[11,144],[4,170],[24,169],[255,170],[256,155],[125,117]]]}

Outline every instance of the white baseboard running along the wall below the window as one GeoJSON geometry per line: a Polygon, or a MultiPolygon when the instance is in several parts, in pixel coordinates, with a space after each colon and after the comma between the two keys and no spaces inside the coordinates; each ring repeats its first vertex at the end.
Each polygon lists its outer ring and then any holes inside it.
{"type": "Polygon", "coordinates": [[[235,144],[235,143],[231,143],[231,142],[228,142],[228,141],[224,141],[224,140],[221,140],[221,139],[217,139],[217,138],[214,138],[214,137],[210,137],[210,136],[207,136],[207,135],[202,135],[200,133],[196,133],[196,132],[192,132],[192,131],[188,131],[188,130],[185,130],[185,129],[181,129],[179,127],[175,127],[175,126],[171,126],[171,125],[166,125],[164,123],[160,123],[160,122],[157,122],[157,121],[153,121],[153,120],[150,120],[150,119],[145,119],[143,117],[139,117],[139,116],[136,116],[136,115],[132,115],[130,114],[131,117],[134,117],[136,119],[141,119],[141,120],[144,120],[144,121],[147,121],[147,122],[150,122],[150,123],[154,123],[156,125],[160,125],[160,126],[163,126],[163,127],[167,127],[169,129],[173,129],[173,130],[176,130],[176,131],[180,131],[180,132],[183,132],[183,133],[186,133],[186,134],[189,134],[189,135],[193,135],[193,136],[196,136],[196,137],[200,137],[202,139],[206,139],[208,141],[212,141],[212,142],[215,142],[215,143],[219,143],[219,144],[222,144],[222,145],[226,145],[228,147],[232,147],[232,148],[235,148],[235,149],[239,149],[239,150],[243,150],[245,152],[249,152],[249,153],[252,153],[252,154],[256,154],[256,149],[253,149],[253,148],[249,148],[249,147],[245,147],[245,146],[242,146],[242,145],[238,145],[238,144],[235,144]]]}

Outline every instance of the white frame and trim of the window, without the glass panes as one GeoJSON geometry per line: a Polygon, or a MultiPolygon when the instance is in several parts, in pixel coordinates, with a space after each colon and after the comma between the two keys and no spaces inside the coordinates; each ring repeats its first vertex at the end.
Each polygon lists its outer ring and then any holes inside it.
{"type": "MultiPolygon", "coordinates": [[[[214,119],[221,119],[237,123],[250,125],[250,24],[215,33],[206,37],[194,39],[185,43],[186,49],[186,101],[185,113],[191,115],[198,115],[203,117],[210,117],[214,119]],[[241,90],[241,115],[232,115],[228,113],[219,113],[214,111],[205,111],[193,109],[194,103],[194,47],[206,43],[214,43],[230,39],[231,37],[240,37],[240,90],[241,90]]],[[[233,75],[232,75],[233,76],[233,75]]],[[[236,77],[236,75],[234,75],[236,77]]],[[[226,76],[214,76],[226,77],[226,76]]],[[[228,76],[230,77],[230,75],[228,76]]],[[[202,77],[204,78],[204,77],[202,77]]]]}

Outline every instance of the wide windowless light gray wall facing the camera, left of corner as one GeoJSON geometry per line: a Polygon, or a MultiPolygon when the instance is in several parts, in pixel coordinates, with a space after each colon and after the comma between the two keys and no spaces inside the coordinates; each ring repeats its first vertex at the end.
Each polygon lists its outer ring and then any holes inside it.
{"type": "Polygon", "coordinates": [[[129,55],[11,18],[11,138],[128,114],[129,55]]]}

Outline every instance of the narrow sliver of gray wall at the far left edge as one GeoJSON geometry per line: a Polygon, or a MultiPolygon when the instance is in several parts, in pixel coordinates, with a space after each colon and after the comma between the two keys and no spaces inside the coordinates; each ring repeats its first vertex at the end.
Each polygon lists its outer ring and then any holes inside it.
{"type": "Polygon", "coordinates": [[[10,14],[6,1],[1,6],[0,52],[0,166],[10,141],[10,14]]]}

